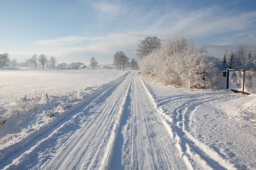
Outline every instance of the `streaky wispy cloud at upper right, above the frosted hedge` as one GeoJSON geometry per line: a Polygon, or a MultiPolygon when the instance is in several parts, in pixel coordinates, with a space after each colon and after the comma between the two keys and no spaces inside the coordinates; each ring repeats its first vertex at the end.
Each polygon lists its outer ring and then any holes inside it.
{"type": "Polygon", "coordinates": [[[220,12],[216,7],[198,11],[174,10],[160,16],[145,33],[202,37],[225,32],[244,31],[255,27],[256,12],[220,12]]]}

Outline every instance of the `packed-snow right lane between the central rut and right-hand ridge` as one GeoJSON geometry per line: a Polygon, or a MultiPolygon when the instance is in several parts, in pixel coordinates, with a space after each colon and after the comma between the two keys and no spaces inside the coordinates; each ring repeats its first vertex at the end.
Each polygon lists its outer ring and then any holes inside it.
{"type": "MultiPolygon", "coordinates": [[[[136,73],[135,73],[136,74],[136,73]]],[[[184,169],[175,143],[134,76],[110,169],[184,169]]]]}

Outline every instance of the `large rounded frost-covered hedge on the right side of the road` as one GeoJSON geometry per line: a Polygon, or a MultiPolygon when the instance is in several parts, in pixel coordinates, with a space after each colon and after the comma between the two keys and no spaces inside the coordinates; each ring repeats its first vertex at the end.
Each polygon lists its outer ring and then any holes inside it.
{"type": "Polygon", "coordinates": [[[216,68],[205,50],[184,37],[174,37],[139,62],[141,74],[163,84],[188,88],[211,88],[216,68]]]}

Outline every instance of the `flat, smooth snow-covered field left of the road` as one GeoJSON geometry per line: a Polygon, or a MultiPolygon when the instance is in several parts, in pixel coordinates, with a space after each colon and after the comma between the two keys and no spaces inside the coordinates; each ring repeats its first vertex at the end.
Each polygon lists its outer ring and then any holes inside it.
{"type": "Polygon", "coordinates": [[[25,95],[63,95],[101,86],[122,75],[108,70],[0,70],[0,103],[10,103],[25,95]]]}

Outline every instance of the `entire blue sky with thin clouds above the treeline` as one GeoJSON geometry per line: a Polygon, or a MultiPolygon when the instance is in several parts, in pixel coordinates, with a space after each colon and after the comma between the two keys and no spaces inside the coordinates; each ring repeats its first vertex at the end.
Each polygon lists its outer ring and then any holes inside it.
{"type": "Polygon", "coordinates": [[[137,58],[147,36],[162,42],[184,36],[222,58],[225,49],[247,45],[256,50],[256,1],[87,1],[0,0],[0,54],[18,62],[34,54],[58,62],[95,57],[113,62],[123,51],[137,58]]]}

